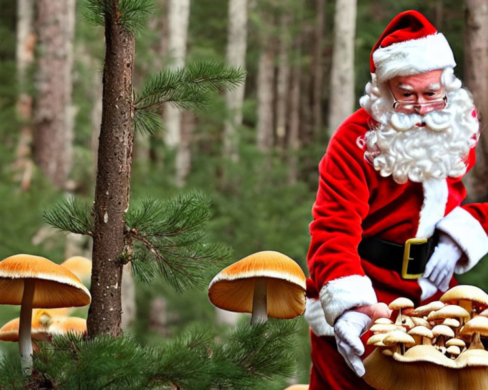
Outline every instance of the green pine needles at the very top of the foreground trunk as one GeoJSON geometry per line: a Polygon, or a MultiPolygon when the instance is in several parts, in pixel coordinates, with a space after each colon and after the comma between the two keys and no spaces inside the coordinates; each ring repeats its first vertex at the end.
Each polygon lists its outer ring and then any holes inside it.
{"type": "Polygon", "coordinates": [[[94,25],[105,25],[105,19],[111,19],[119,23],[125,30],[137,33],[141,30],[151,12],[152,0],[119,0],[117,9],[113,2],[107,0],[85,0],[83,16],[94,25]]]}

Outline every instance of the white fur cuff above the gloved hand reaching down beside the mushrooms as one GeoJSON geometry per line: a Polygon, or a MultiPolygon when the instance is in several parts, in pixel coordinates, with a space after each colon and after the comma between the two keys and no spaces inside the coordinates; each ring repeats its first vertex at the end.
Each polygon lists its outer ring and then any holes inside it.
{"type": "Polygon", "coordinates": [[[325,320],[333,326],[346,310],[378,303],[371,280],[367,276],[350,275],[329,281],[320,290],[325,320]]]}

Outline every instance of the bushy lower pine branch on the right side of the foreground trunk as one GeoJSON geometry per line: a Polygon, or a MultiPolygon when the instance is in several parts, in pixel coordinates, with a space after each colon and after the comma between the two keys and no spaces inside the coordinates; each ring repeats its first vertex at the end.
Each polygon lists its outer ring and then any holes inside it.
{"type": "Polygon", "coordinates": [[[208,273],[219,270],[230,254],[221,244],[203,242],[209,218],[210,199],[196,192],[131,207],[126,220],[135,277],[150,282],[161,275],[178,291],[203,287],[208,273]]]}

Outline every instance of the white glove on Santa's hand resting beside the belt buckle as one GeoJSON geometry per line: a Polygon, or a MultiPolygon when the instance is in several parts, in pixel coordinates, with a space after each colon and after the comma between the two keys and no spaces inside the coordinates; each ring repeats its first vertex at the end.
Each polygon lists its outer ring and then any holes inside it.
{"type": "Polygon", "coordinates": [[[424,277],[440,291],[447,291],[456,263],[463,251],[447,234],[439,235],[439,242],[426,264],[424,277]]]}

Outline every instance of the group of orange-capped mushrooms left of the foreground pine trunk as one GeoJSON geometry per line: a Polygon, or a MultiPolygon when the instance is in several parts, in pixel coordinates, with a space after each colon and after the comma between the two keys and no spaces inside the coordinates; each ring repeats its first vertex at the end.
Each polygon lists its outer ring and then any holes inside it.
{"type": "Polygon", "coordinates": [[[0,304],[20,305],[20,317],[0,328],[0,340],[19,342],[25,373],[31,370],[36,341],[51,341],[54,334],[86,332],[84,318],[68,315],[74,307],[90,303],[90,292],[81,282],[89,280],[90,274],[91,261],[81,256],[61,265],[30,254],[0,261],[0,304]]]}

